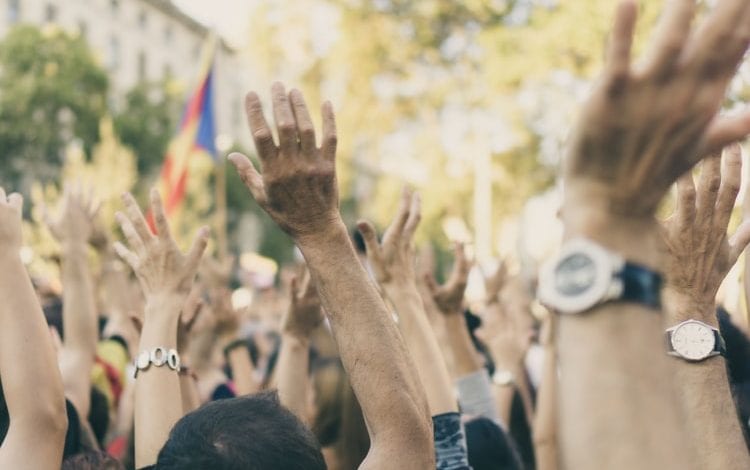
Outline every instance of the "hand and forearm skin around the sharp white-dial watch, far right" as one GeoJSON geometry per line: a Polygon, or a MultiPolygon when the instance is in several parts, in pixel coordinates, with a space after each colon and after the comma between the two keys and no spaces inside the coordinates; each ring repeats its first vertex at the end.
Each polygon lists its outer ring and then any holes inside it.
{"type": "MultiPolygon", "coordinates": [[[[667,326],[694,319],[718,328],[715,298],[721,282],[750,242],[750,223],[734,236],[727,225],[742,179],[739,145],[703,162],[696,186],[687,174],[677,185],[677,208],[664,223],[668,248],[667,326]],[[722,168],[723,163],[723,168],[722,168]]],[[[680,398],[689,429],[700,449],[702,468],[750,468],[740,423],[734,412],[724,358],[695,363],[674,359],[680,398]]]]}

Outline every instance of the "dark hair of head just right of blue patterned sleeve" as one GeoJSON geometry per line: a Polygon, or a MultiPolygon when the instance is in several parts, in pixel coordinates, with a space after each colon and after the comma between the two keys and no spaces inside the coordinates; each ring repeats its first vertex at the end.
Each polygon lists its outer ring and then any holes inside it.
{"type": "Polygon", "coordinates": [[[466,422],[469,464],[474,470],[523,470],[513,440],[491,419],[473,418],[466,422]]]}

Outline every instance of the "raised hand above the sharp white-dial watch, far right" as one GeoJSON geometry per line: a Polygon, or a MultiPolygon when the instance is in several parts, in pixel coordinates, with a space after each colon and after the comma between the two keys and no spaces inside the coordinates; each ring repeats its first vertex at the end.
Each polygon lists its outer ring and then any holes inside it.
{"type": "Polygon", "coordinates": [[[667,298],[673,320],[688,317],[715,323],[716,293],[750,243],[750,221],[727,234],[742,183],[742,149],[732,145],[724,157],[707,158],[697,191],[692,174],[677,182],[677,207],[664,222],[668,248],[667,298]]]}

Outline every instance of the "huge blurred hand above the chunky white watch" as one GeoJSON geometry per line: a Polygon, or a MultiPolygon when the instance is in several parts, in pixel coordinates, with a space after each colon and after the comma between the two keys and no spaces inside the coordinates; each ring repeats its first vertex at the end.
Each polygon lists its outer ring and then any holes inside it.
{"type": "Polygon", "coordinates": [[[692,29],[695,3],[669,2],[650,54],[633,67],[636,2],[620,1],[604,75],[566,159],[562,215],[569,229],[606,230],[611,221],[603,216],[650,220],[680,175],[750,132],[747,112],[718,115],[748,46],[750,2],[719,1],[692,29]]]}

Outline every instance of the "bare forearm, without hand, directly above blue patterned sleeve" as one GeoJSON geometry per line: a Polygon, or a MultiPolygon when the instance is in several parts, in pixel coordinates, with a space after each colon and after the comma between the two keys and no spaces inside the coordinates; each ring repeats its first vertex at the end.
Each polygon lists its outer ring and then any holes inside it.
{"type": "Polygon", "coordinates": [[[432,416],[458,411],[448,368],[432,332],[422,299],[413,282],[385,287],[386,295],[398,313],[399,326],[414,365],[427,393],[432,416]]]}

